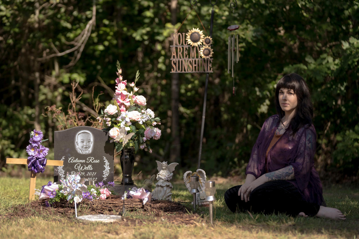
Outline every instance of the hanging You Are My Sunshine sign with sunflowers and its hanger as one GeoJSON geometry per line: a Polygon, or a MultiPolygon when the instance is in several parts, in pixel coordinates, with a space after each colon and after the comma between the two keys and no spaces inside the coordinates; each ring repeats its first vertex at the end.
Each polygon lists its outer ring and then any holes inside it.
{"type": "MultiPolygon", "coordinates": [[[[190,13],[192,10],[195,10],[193,5],[190,13]]],[[[207,35],[207,31],[197,12],[196,14],[207,35]]],[[[208,35],[205,36],[199,28],[192,28],[187,33],[179,33],[178,31],[185,20],[183,20],[177,31],[172,34],[171,73],[212,73],[212,38],[208,35]]]]}

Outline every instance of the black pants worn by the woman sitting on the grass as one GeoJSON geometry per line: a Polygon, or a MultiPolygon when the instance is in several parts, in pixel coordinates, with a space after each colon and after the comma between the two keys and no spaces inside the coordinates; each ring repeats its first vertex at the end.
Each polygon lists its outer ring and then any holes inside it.
{"type": "Polygon", "coordinates": [[[270,181],[256,187],[251,192],[248,202],[242,201],[241,196],[238,196],[241,186],[229,188],[224,193],[224,201],[232,212],[246,212],[247,210],[264,214],[280,212],[290,216],[304,212],[308,216],[314,216],[320,208],[319,205],[303,200],[298,189],[284,180],[270,181]]]}

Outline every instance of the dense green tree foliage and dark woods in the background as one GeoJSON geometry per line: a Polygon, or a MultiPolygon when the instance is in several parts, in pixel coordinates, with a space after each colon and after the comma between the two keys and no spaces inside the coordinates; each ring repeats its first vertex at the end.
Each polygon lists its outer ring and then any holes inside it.
{"type": "MultiPolygon", "coordinates": [[[[296,72],[312,92],[318,171],[335,180],[358,178],[359,1],[242,0],[233,11],[229,4],[214,6],[214,73],[201,168],[209,175],[244,173],[262,123],[275,114],[276,81],[296,72]],[[240,26],[236,96],[227,74],[231,24],[240,26]]],[[[162,119],[162,138],[151,144],[153,154],[139,153],[135,171],[153,171],[154,159],[194,170],[205,74],[176,79],[169,73],[170,35],[190,9],[184,0],[0,0],[0,168],[6,171],[5,157],[26,157],[34,128],[45,132],[53,148],[60,123],[47,117],[46,106],[96,117],[93,97],[103,105],[111,101],[119,60],[129,82],[140,71],[140,94],[162,119]],[[78,96],[83,90],[75,106],[73,81],[78,96]]],[[[209,1],[198,1],[195,10],[209,32],[209,1]]],[[[192,27],[202,29],[194,11],[180,32],[192,27]]]]}

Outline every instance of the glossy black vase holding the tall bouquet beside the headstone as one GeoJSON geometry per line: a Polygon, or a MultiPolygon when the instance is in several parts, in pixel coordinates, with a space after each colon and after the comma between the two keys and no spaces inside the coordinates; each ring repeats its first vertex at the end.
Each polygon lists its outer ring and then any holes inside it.
{"type": "Polygon", "coordinates": [[[121,169],[122,169],[122,181],[121,185],[134,185],[134,181],[132,180],[132,171],[134,169],[134,163],[135,163],[135,149],[134,148],[128,148],[128,149],[122,149],[121,151],[121,169]],[[125,184],[123,184],[125,183],[125,184]]]}

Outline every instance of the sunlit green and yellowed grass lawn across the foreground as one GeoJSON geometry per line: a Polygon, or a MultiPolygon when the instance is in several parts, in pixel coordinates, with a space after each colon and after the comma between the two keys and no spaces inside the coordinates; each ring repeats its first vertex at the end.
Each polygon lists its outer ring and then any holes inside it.
{"type": "MultiPolygon", "coordinates": [[[[37,188],[52,178],[37,179],[37,188]]],[[[137,182],[137,185],[141,185],[137,182]]],[[[181,181],[173,183],[172,200],[190,207],[192,195],[181,181]]],[[[214,226],[210,226],[208,208],[200,207],[191,225],[176,224],[154,214],[128,212],[125,216],[140,226],[118,223],[81,223],[61,215],[39,213],[28,218],[4,216],[13,206],[28,202],[29,178],[0,178],[0,238],[358,238],[359,191],[335,185],[324,188],[327,206],[340,209],[345,221],[322,218],[293,218],[283,214],[233,214],[224,203],[223,194],[236,182],[216,183],[217,201],[214,204],[214,226]]],[[[31,209],[29,209],[31,210],[31,209]]],[[[191,215],[191,212],[188,212],[191,215]]]]}

